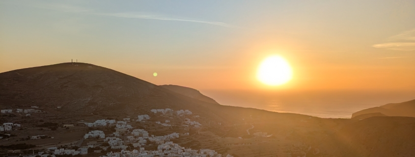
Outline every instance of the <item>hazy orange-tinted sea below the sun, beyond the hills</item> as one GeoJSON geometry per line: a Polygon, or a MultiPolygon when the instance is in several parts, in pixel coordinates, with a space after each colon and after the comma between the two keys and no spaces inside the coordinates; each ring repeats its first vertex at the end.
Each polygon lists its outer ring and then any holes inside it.
{"type": "Polygon", "coordinates": [[[415,90],[260,91],[200,90],[221,105],[322,118],[351,118],[354,112],[415,99],[415,90]]]}

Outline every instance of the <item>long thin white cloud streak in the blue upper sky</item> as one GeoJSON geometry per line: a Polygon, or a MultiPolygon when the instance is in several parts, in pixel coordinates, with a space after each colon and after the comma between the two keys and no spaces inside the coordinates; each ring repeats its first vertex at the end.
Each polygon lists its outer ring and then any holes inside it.
{"type": "Polygon", "coordinates": [[[199,21],[199,20],[189,20],[185,18],[169,18],[159,15],[146,15],[146,14],[139,14],[139,13],[94,13],[95,15],[101,16],[109,16],[109,17],[117,17],[117,18],[131,18],[131,19],[151,19],[151,20],[164,20],[164,21],[183,21],[183,22],[197,22],[197,23],[205,23],[205,24],[212,24],[212,25],[219,25],[223,27],[234,28],[236,26],[223,23],[223,22],[208,22],[208,21],[199,21]]]}

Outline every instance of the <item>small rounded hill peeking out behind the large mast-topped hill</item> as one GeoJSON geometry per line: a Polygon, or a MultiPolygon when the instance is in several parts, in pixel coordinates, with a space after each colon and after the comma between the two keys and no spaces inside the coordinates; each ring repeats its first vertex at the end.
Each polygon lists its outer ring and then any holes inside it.
{"type": "Polygon", "coordinates": [[[167,90],[171,90],[171,91],[180,93],[180,94],[185,95],[185,96],[189,96],[189,97],[197,99],[197,100],[201,100],[201,101],[208,102],[208,103],[213,103],[213,104],[219,104],[214,99],[200,93],[199,90],[195,90],[195,89],[188,88],[188,87],[183,87],[183,86],[177,86],[177,85],[161,85],[161,87],[163,87],[167,90]]]}

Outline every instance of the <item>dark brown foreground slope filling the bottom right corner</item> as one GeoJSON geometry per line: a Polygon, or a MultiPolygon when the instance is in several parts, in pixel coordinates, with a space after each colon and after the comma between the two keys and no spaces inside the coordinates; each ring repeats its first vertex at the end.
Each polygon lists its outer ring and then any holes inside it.
{"type": "Polygon", "coordinates": [[[415,118],[376,116],[327,136],[321,147],[336,157],[415,157],[415,118]]]}

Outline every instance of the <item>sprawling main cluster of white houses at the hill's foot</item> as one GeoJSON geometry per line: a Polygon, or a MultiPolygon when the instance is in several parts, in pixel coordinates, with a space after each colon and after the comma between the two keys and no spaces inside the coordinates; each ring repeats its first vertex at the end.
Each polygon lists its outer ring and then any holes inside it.
{"type": "MultiPolygon", "coordinates": [[[[162,112],[162,113],[166,113],[166,112],[172,112],[173,110],[170,109],[159,109],[159,110],[152,110],[152,112],[162,112]]],[[[179,112],[177,112],[178,114],[192,114],[190,111],[188,110],[180,110],[179,112]]],[[[148,116],[147,114],[144,115],[138,115],[138,120],[144,120],[144,119],[149,119],[150,116],[148,116]]],[[[129,118],[124,118],[124,121],[115,121],[115,120],[96,120],[93,123],[85,123],[85,125],[87,125],[88,127],[97,127],[97,126],[107,126],[107,125],[115,125],[116,128],[116,132],[113,133],[112,135],[108,135],[108,137],[106,137],[105,133],[103,131],[99,131],[99,130],[94,130],[94,131],[90,131],[89,133],[84,135],[84,138],[104,138],[104,142],[108,142],[109,147],[111,149],[121,149],[121,152],[110,152],[107,153],[106,156],[101,156],[101,157],[222,157],[221,154],[219,154],[218,152],[214,151],[214,150],[210,150],[210,149],[200,149],[200,150],[193,150],[191,148],[185,148],[185,147],[181,147],[178,144],[175,144],[173,142],[171,142],[171,139],[174,138],[178,138],[179,134],[178,133],[172,133],[169,135],[163,135],[163,136],[156,136],[156,135],[149,135],[149,133],[147,131],[145,131],[144,129],[133,129],[133,127],[131,125],[128,125],[127,122],[130,120],[129,118]],[[125,133],[128,132],[128,135],[126,137],[126,139],[122,139],[120,136],[120,133],[125,133]],[[148,142],[157,144],[157,150],[154,151],[146,151],[144,150],[144,148],[142,147],[143,145],[146,145],[148,142]],[[134,149],[133,151],[127,151],[127,144],[132,144],[134,146],[134,148],[138,149],[134,149]]],[[[161,123],[161,122],[156,122],[157,124],[163,125],[165,124],[166,126],[169,125],[167,123],[169,123],[169,120],[166,120],[165,123],[161,123]]],[[[189,118],[185,119],[185,123],[188,125],[192,125],[194,127],[199,127],[201,126],[201,124],[199,122],[196,121],[191,121],[189,118]]],[[[186,133],[185,135],[189,135],[189,133],[186,133]]],[[[38,138],[42,138],[41,136],[44,135],[38,135],[36,137],[32,137],[35,139],[38,138]]],[[[74,150],[74,149],[57,149],[56,147],[54,148],[49,148],[49,151],[51,154],[53,155],[82,155],[82,154],[87,154],[87,150],[89,147],[94,147],[94,146],[99,146],[100,144],[97,144],[97,142],[95,142],[95,144],[87,144],[88,147],[82,147],[78,150],[74,150]],[[53,151],[53,152],[52,152],[53,151]]],[[[108,147],[101,147],[102,149],[106,150],[108,147]]],[[[43,157],[43,156],[42,156],[43,157]]],[[[232,157],[230,155],[226,156],[226,157],[232,157]]]]}

